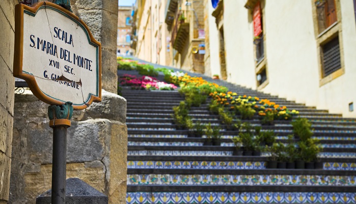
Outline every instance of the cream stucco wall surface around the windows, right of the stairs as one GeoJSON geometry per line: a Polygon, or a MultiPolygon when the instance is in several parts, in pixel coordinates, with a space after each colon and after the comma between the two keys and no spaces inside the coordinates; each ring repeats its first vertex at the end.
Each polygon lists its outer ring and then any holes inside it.
{"type": "MultiPolygon", "coordinates": [[[[228,81],[256,88],[256,64],[251,10],[246,1],[225,0],[224,36],[228,81]]],[[[348,104],[356,102],[356,22],[352,1],[340,2],[338,16],[345,73],[320,83],[318,34],[314,31],[313,1],[265,0],[262,7],[268,84],[261,90],[289,100],[356,117],[348,104]]],[[[337,4],[338,5],[338,4],[337,4]]]]}

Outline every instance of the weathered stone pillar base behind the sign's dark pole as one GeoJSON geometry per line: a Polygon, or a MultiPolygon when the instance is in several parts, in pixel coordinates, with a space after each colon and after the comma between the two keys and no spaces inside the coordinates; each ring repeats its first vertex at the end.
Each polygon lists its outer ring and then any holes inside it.
{"type": "MultiPolygon", "coordinates": [[[[47,104],[29,94],[15,95],[9,203],[35,203],[51,187],[52,129],[47,104]]],[[[102,102],[74,111],[67,133],[67,178],[79,178],[126,203],[126,100],[102,92],[102,102]]]]}

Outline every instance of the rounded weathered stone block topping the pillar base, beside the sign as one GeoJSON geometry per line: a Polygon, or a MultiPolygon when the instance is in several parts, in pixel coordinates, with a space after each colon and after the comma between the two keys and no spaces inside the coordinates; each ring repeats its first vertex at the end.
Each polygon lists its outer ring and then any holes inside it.
{"type": "Polygon", "coordinates": [[[92,103],[86,110],[86,114],[92,119],[108,119],[112,121],[126,122],[126,99],[110,92],[102,90],[100,103],[92,103]]]}

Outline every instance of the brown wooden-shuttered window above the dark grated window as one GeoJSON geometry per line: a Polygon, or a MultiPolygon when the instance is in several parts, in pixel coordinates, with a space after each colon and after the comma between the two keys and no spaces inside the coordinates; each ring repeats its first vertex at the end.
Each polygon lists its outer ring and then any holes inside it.
{"type": "Polygon", "coordinates": [[[318,31],[323,32],[327,27],[337,21],[335,0],[315,0],[318,31]]]}

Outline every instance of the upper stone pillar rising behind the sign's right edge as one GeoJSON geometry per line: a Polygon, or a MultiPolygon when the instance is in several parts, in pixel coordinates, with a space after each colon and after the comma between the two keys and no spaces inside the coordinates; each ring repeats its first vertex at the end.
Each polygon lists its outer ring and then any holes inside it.
{"type": "Polygon", "coordinates": [[[116,38],[118,26],[117,0],[71,0],[73,13],[90,28],[101,43],[102,88],[117,93],[116,38]]]}

